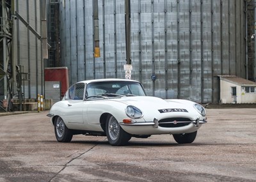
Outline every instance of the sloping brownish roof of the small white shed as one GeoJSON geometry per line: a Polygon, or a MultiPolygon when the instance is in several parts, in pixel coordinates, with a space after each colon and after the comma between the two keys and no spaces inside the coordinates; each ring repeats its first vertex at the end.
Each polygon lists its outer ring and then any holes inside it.
{"type": "Polygon", "coordinates": [[[225,80],[227,82],[231,82],[239,86],[256,86],[256,82],[253,82],[251,80],[246,80],[241,77],[236,77],[232,75],[220,75],[219,77],[221,80],[225,80]]]}

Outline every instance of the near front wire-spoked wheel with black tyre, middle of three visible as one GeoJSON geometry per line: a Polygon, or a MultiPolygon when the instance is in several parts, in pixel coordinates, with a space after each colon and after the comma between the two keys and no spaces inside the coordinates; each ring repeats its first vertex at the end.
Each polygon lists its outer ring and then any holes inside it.
{"type": "Polygon", "coordinates": [[[114,116],[109,116],[107,119],[106,134],[112,146],[123,146],[131,139],[131,135],[121,128],[114,116]]]}

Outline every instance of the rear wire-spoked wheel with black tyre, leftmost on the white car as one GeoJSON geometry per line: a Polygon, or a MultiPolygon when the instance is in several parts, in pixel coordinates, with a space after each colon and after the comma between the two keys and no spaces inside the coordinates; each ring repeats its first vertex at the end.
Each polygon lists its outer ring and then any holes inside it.
{"type": "Polygon", "coordinates": [[[54,121],[54,133],[58,142],[70,142],[73,137],[72,132],[67,128],[63,119],[60,117],[56,118],[54,121]]]}

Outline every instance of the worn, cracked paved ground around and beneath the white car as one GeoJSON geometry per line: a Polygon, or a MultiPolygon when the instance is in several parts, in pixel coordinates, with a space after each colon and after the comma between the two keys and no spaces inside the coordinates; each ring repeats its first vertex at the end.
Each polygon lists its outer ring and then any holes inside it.
{"type": "Polygon", "coordinates": [[[56,142],[45,112],[0,117],[0,181],[256,181],[256,108],[207,109],[193,144],[170,135],[110,146],[56,142]]]}

